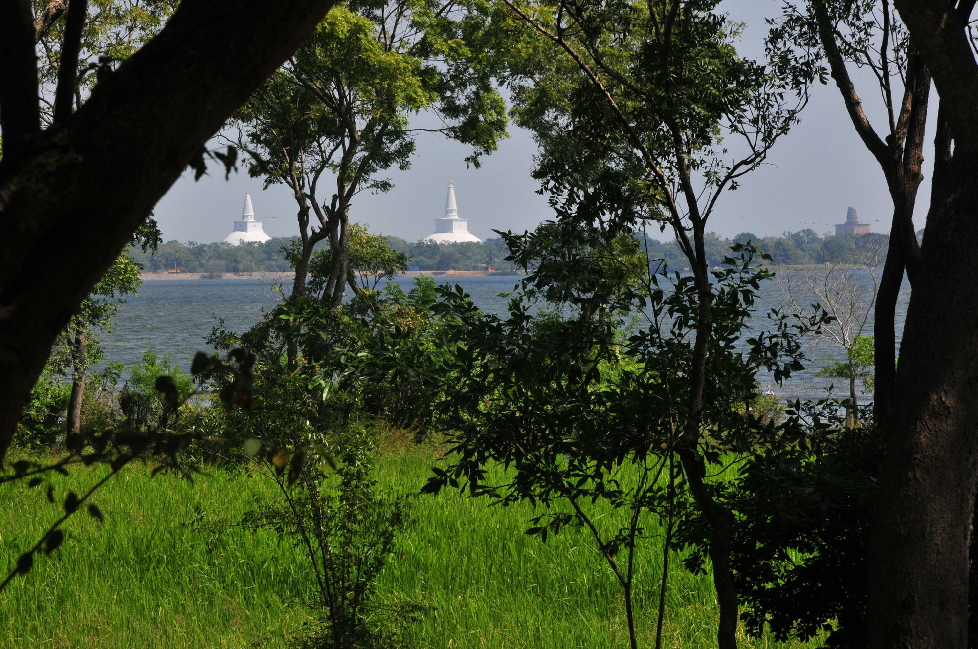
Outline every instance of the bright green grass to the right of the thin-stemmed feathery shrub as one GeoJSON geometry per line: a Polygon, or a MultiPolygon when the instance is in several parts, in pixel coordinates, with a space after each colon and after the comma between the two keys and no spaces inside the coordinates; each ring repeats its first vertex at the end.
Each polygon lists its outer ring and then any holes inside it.
{"type": "MultiPolygon", "coordinates": [[[[381,484],[417,491],[432,460],[420,454],[388,456],[381,484]]],[[[527,536],[540,513],[529,504],[487,506],[484,498],[443,491],[416,499],[417,520],[380,579],[391,603],[416,601],[433,613],[409,629],[419,647],[627,647],[621,589],[590,535],[565,528],[544,543],[527,536]]],[[[593,508],[605,530],[625,525],[625,511],[601,502],[593,508]]],[[[661,529],[645,521],[637,556],[636,601],[640,646],[652,647],[662,555],[661,529]]],[[[689,574],[673,562],[666,599],[666,647],[716,646],[712,577],[689,574]]],[[[745,647],[818,646],[740,637],[745,647]]]]}

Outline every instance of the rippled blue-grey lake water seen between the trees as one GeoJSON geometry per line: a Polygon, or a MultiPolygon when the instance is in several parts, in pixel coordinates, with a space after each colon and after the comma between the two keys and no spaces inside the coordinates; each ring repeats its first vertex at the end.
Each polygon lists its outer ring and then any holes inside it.
{"type": "MultiPolygon", "coordinates": [[[[859,281],[869,285],[867,271],[853,273],[859,281]]],[[[483,311],[502,313],[506,310],[508,298],[500,297],[500,293],[511,291],[518,278],[451,277],[436,278],[435,281],[460,284],[483,311]]],[[[412,282],[409,278],[395,280],[405,290],[410,290],[412,282]]],[[[244,331],[258,322],[263,313],[273,309],[282,297],[282,292],[271,280],[146,281],[139,293],[129,296],[126,304],[119,309],[113,333],[104,336],[106,358],[129,367],[139,363],[143,353],[150,349],[159,356],[168,356],[173,363],[187,369],[194,354],[212,351],[204,339],[211,328],[218,324],[218,319],[223,319],[232,330],[244,331]]],[[[909,288],[905,281],[898,308],[898,339],[903,330],[908,299],[909,288]]],[[[766,282],[758,301],[758,316],[752,323],[754,332],[769,328],[765,317],[767,312],[781,307],[783,302],[778,283],[766,282]]],[[[866,333],[871,332],[870,317],[866,333]]],[[[816,376],[819,368],[844,357],[841,348],[816,337],[807,339],[805,348],[811,360],[805,371],[792,375],[782,386],[774,384],[770,377],[761,377],[762,390],[766,391],[770,382],[770,389],[785,399],[816,398],[824,396],[825,387],[833,380],[836,392],[847,390],[843,385],[844,379],[816,376]]]]}

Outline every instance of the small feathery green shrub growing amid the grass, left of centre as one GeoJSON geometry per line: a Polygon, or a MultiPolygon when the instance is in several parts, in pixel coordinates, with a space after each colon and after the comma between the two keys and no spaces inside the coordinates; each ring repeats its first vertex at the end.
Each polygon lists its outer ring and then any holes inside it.
{"type": "MultiPolygon", "coordinates": [[[[245,453],[257,460],[254,470],[274,482],[281,497],[281,502],[261,502],[244,516],[244,525],[293,541],[316,578],[313,592],[288,593],[317,611],[322,625],[295,638],[294,646],[400,646],[371,622],[380,610],[377,577],[408,522],[407,502],[377,493],[372,476],[377,449],[362,426],[348,426],[327,443],[304,442],[294,454],[262,450],[257,439],[244,444],[245,453]]],[[[385,612],[404,619],[418,608],[385,612]]]]}

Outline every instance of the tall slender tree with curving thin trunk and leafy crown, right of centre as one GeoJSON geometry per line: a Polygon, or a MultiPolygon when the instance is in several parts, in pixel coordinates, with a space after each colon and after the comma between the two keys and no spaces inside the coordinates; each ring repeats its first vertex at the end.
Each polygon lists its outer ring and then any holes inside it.
{"type": "Polygon", "coordinates": [[[737,597],[726,552],[733,518],[704,481],[701,453],[708,350],[718,335],[707,223],[720,196],[794,124],[806,95],[785,92],[782,66],[737,55],[739,26],[717,4],[495,6],[497,20],[520,34],[511,67],[515,118],[540,145],[534,175],[561,216],[600,224],[611,236],[638,222],[669,227],[689,263],[697,294],[689,392],[677,404],[677,432],[667,445],[712,533],[718,642],[733,649],[737,597]]]}

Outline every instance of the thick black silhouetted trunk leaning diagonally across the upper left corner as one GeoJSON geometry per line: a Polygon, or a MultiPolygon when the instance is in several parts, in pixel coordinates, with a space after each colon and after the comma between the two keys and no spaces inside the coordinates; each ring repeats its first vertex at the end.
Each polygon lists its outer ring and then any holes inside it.
{"type": "Polygon", "coordinates": [[[184,0],[82,108],[46,131],[27,128],[34,132],[25,138],[13,125],[39,124],[33,24],[3,20],[22,4],[0,3],[0,82],[17,82],[0,89],[4,140],[17,143],[0,162],[0,458],[71,313],[195,153],[333,0],[184,0]],[[32,88],[23,81],[31,74],[32,88]]]}

